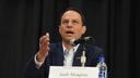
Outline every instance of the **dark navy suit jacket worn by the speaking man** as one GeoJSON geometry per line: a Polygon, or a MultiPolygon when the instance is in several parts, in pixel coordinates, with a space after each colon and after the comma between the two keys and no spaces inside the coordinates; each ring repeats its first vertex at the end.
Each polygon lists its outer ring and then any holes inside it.
{"type": "MultiPolygon", "coordinates": [[[[80,57],[83,47],[80,44],[73,58],[73,66],[81,66],[80,57]]],[[[86,46],[86,63],[85,66],[96,66],[97,57],[102,54],[102,49],[95,46],[86,46]]],[[[25,76],[26,78],[48,78],[49,66],[63,66],[63,50],[61,43],[50,44],[49,55],[39,69],[34,62],[34,56],[27,62],[25,76]]]]}

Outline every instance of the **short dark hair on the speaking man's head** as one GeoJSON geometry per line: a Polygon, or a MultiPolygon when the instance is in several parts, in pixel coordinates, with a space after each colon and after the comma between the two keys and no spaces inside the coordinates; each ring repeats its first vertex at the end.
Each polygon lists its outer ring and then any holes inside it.
{"type": "Polygon", "coordinates": [[[82,20],[82,25],[85,25],[85,18],[84,18],[83,12],[82,12],[81,10],[79,10],[79,9],[75,9],[75,8],[68,8],[68,9],[66,9],[66,10],[61,13],[61,15],[60,15],[60,21],[61,21],[62,15],[63,15],[67,11],[74,11],[74,12],[79,13],[80,16],[81,16],[81,20],[82,20]]]}

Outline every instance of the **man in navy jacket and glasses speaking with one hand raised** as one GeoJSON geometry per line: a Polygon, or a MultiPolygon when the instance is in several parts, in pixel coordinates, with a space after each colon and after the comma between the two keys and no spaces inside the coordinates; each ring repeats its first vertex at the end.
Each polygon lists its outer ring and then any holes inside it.
{"type": "MultiPolygon", "coordinates": [[[[39,50],[28,62],[26,67],[27,78],[47,78],[49,66],[81,66],[82,44],[71,46],[70,40],[80,39],[86,31],[84,17],[81,11],[69,8],[61,15],[59,32],[62,38],[60,43],[49,43],[49,34],[39,39],[39,50]],[[69,51],[69,52],[66,52],[69,51]],[[68,57],[66,53],[71,53],[68,57]]],[[[94,46],[86,46],[85,66],[96,66],[97,57],[102,50],[94,46]]]]}

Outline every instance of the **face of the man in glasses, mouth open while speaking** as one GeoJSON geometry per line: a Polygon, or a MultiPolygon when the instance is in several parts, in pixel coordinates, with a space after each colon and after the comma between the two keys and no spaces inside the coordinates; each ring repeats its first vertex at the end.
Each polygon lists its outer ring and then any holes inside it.
{"type": "Polygon", "coordinates": [[[63,41],[79,39],[85,32],[86,27],[83,26],[81,15],[75,11],[67,11],[61,17],[59,32],[63,41]]]}

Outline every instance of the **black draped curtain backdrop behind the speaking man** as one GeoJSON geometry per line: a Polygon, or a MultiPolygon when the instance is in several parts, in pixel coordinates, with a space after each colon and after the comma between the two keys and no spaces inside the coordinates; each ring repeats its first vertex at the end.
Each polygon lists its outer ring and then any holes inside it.
{"type": "Polygon", "coordinates": [[[47,31],[61,40],[59,15],[85,14],[88,31],[104,49],[109,78],[140,78],[140,0],[0,0],[0,78],[24,78],[26,62],[47,31]]]}

